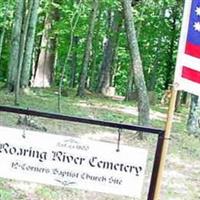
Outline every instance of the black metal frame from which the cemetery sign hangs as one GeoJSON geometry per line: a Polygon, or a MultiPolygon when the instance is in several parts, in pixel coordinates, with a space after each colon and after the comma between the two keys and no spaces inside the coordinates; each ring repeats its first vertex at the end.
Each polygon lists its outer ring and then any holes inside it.
{"type": "Polygon", "coordinates": [[[147,196],[147,200],[154,200],[155,185],[156,185],[156,181],[157,181],[157,177],[158,177],[159,163],[161,160],[163,143],[164,143],[165,139],[169,139],[169,138],[164,137],[164,133],[165,133],[164,130],[158,129],[158,128],[153,128],[153,127],[115,123],[115,122],[102,121],[102,120],[94,120],[94,119],[68,116],[68,115],[62,115],[62,114],[58,114],[58,113],[42,112],[42,111],[37,111],[37,110],[32,110],[32,109],[23,109],[23,108],[18,108],[18,107],[11,107],[11,106],[0,106],[0,112],[23,114],[23,115],[44,117],[44,118],[64,120],[64,121],[70,121],[70,122],[77,122],[77,123],[105,126],[105,127],[111,127],[111,128],[139,131],[139,132],[143,132],[145,134],[156,134],[158,136],[157,137],[157,145],[156,145],[156,150],[155,150],[155,157],[154,157],[154,162],[153,162],[153,170],[152,170],[152,174],[151,174],[150,187],[149,187],[149,192],[148,192],[148,196],[147,196]]]}

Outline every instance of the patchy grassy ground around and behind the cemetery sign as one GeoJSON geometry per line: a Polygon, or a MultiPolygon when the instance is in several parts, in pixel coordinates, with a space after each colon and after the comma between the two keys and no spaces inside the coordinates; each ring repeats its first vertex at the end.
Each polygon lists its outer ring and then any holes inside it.
{"type": "MultiPolygon", "coordinates": [[[[62,97],[62,114],[71,116],[101,119],[106,121],[137,123],[137,108],[135,102],[125,102],[121,98],[105,98],[88,94],[84,99],[75,96],[74,91],[69,96],[62,97]]],[[[0,105],[13,106],[13,94],[0,91],[0,105]]],[[[57,112],[57,91],[54,89],[33,89],[20,97],[20,107],[45,112],[57,112]]],[[[164,128],[167,107],[156,105],[151,110],[151,125],[164,128]]],[[[185,129],[188,109],[182,107],[176,113],[172,128],[169,153],[167,158],[161,200],[198,200],[200,199],[200,139],[189,135],[185,129]]],[[[98,126],[49,120],[31,117],[38,129],[46,129],[53,134],[76,135],[92,140],[116,142],[117,130],[98,126]]],[[[0,125],[24,128],[19,124],[16,114],[0,113],[0,125]]],[[[35,129],[34,127],[26,127],[35,129]]],[[[124,131],[122,144],[139,146],[149,152],[142,199],[146,199],[149,180],[154,159],[156,137],[145,135],[139,140],[137,133],[124,131]]],[[[35,183],[0,179],[0,200],[128,200],[128,197],[106,195],[82,190],[63,189],[35,183]]]]}

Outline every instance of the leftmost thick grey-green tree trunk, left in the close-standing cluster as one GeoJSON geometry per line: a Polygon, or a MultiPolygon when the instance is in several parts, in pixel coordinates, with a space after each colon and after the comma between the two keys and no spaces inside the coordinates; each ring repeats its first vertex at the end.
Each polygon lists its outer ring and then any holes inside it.
{"type": "Polygon", "coordinates": [[[14,24],[12,28],[12,38],[11,38],[12,48],[8,64],[7,87],[9,91],[14,90],[15,80],[17,76],[17,68],[20,57],[20,40],[21,40],[24,5],[25,5],[24,0],[16,1],[16,10],[15,10],[14,24]]]}

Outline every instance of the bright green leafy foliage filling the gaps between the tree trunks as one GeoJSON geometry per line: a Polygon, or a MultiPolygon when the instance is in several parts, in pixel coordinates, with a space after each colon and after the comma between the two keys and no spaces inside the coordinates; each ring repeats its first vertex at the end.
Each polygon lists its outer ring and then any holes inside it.
{"type": "MultiPolygon", "coordinates": [[[[5,12],[5,1],[0,1],[0,28],[6,26],[6,38],[4,40],[3,54],[0,59],[0,80],[7,79],[7,65],[10,52],[11,28],[13,21],[15,1],[10,0],[8,18],[3,21],[5,12]]],[[[121,10],[120,1],[102,0],[98,22],[95,26],[94,40],[92,46],[92,57],[90,60],[89,76],[93,78],[91,88],[95,88],[98,81],[99,66],[102,63],[103,40],[108,32],[108,12],[110,10],[121,10]],[[94,70],[94,71],[92,71],[94,70]]],[[[133,9],[134,21],[136,24],[140,53],[142,57],[145,79],[149,90],[157,92],[157,96],[162,96],[162,91],[166,89],[173,79],[173,72],[176,60],[178,37],[180,33],[182,18],[182,1],[176,0],[148,0],[140,1],[133,9]],[[174,26],[175,22],[175,28],[174,26]],[[173,42],[173,45],[172,45],[173,42]],[[156,81],[155,81],[156,80],[156,81]]],[[[57,65],[54,71],[54,85],[58,85],[62,66],[70,45],[70,34],[72,25],[78,17],[74,36],[78,38],[78,45],[73,46],[73,51],[77,52],[76,84],[80,75],[80,69],[85,48],[85,39],[88,29],[89,14],[91,12],[91,1],[68,1],[68,0],[42,0],[38,10],[39,18],[37,24],[37,34],[35,41],[34,61],[40,49],[40,41],[43,30],[43,23],[46,13],[52,12],[52,28],[50,35],[57,38],[57,65]],[[81,3],[80,3],[81,2],[81,3]],[[57,10],[59,20],[55,20],[52,10],[57,10]]],[[[1,32],[0,32],[1,33],[1,32]]],[[[110,33],[109,33],[110,34],[110,33]]],[[[112,33],[111,33],[112,34],[112,33]]],[[[70,58],[71,59],[71,58],[70,58]]],[[[130,58],[127,51],[127,38],[124,26],[120,31],[118,49],[113,66],[114,83],[116,91],[120,95],[126,93],[127,80],[129,74],[130,58]]],[[[64,86],[68,87],[72,73],[71,60],[66,63],[64,86]]],[[[91,77],[89,77],[91,79],[91,77]]]]}

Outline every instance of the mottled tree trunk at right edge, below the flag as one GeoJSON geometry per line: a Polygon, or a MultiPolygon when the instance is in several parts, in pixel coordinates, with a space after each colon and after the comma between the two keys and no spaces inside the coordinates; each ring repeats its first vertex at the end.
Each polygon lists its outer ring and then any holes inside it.
{"type": "Polygon", "coordinates": [[[196,95],[191,98],[187,130],[190,134],[200,135],[200,98],[196,95]]]}

